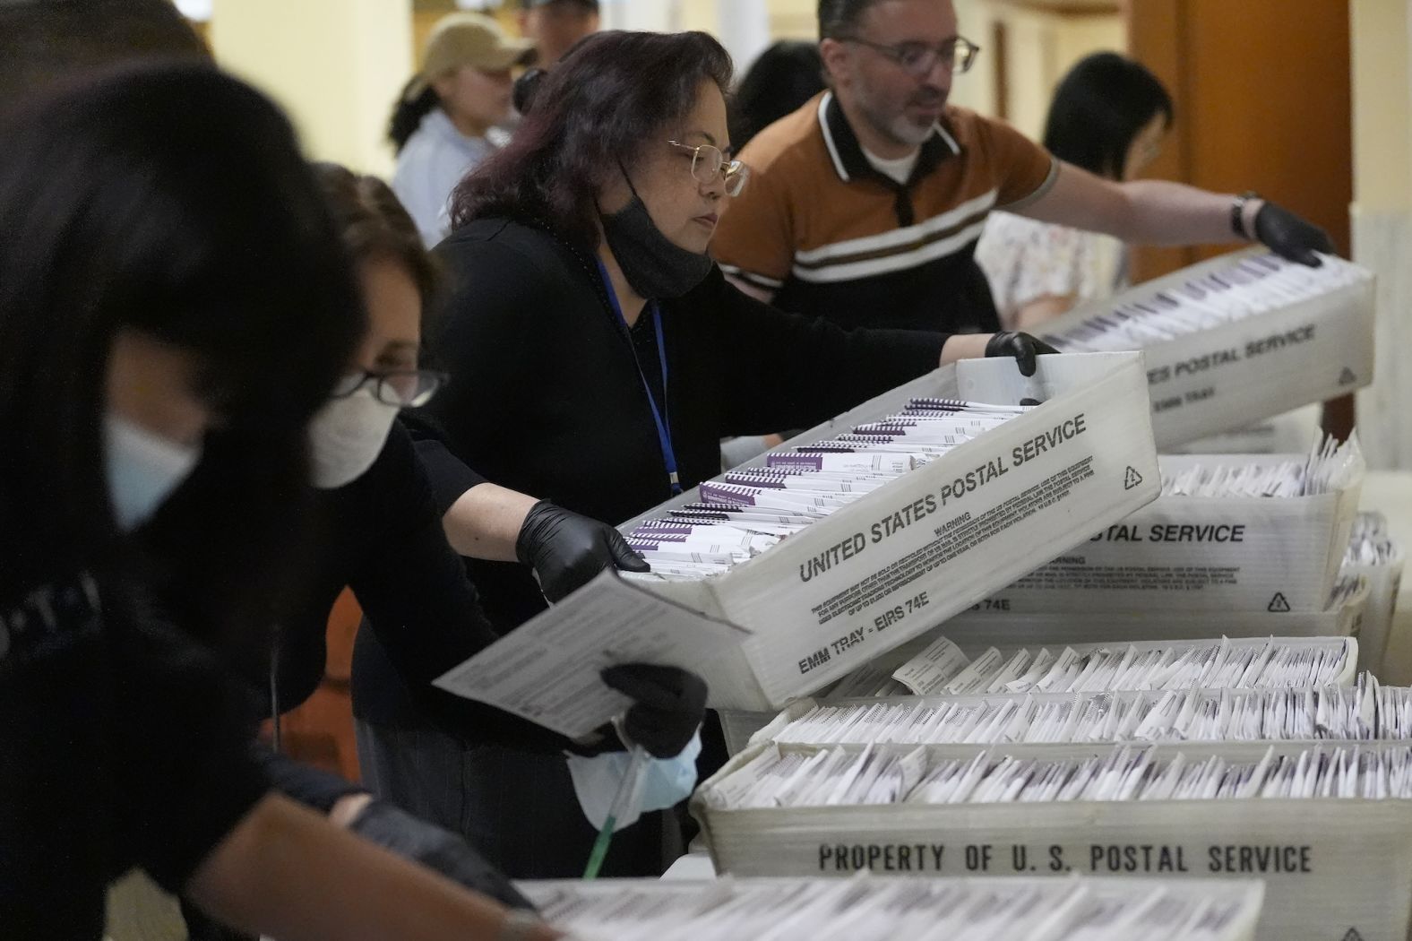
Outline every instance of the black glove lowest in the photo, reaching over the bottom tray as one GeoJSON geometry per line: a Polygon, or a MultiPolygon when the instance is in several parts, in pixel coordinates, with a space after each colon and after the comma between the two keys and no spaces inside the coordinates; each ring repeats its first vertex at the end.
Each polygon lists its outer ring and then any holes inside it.
{"type": "Polygon", "coordinates": [[[459,834],[417,819],[384,801],[373,801],[353,818],[350,831],[398,856],[433,869],[473,892],[498,899],[511,909],[534,906],[459,834]]]}

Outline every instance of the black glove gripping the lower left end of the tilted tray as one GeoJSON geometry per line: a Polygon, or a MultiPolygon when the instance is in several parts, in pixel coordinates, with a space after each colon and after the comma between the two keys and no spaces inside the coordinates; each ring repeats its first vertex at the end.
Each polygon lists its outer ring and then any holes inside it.
{"type": "Polygon", "coordinates": [[[604,568],[645,572],[647,561],[607,523],[539,500],[515,537],[515,557],[539,576],[539,591],[556,602],[587,585],[604,568]]]}

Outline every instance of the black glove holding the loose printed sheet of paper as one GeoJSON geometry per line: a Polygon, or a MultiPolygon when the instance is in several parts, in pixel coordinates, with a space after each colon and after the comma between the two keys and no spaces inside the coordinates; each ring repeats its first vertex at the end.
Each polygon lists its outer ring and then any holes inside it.
{"type": "Polygon", "coordinates": [[[681,754],[706,718],[706,681],[695,673],[647,663],[609,667],[603,682],[635,702],[623,732],[652,757],[681,754]]]}

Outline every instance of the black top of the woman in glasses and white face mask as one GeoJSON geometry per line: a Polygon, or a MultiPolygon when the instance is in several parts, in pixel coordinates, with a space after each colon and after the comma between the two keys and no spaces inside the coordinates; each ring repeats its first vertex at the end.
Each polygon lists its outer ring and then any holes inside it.
{"type": "MultiPolygon", "coordinates": [[[[462,468],[462,473],[467,472],[462,468]]],[[[568,746],[563,736],[542,726],[431,685],[493,643],[496,633],[460,557],[446,543],[426,472],[401,425],[393,425],[366,473],[318,492],[315,519],[309,591],[281,630],[281,709],[304,702],[323,677],[329,609],[350,586],[364,613],[360,637],[376,633],[395,665],[380,684],[354,691],[356,715],[401,722],[412,692],[418,711],[449,732],[549,752],[568,746]]],[[[357,658],[354,653],[354,671],[357,658]]]]}

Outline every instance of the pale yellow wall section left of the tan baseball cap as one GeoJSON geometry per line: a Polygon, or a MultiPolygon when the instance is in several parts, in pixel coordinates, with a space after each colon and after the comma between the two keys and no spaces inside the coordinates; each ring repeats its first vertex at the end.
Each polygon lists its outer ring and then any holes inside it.
{"type": "Polygon", "coordinates": [[[216,0],[216,59],[294,119],[306,153],[391,171],[383,141],[412,69],[411,0],[216,0]]]}

